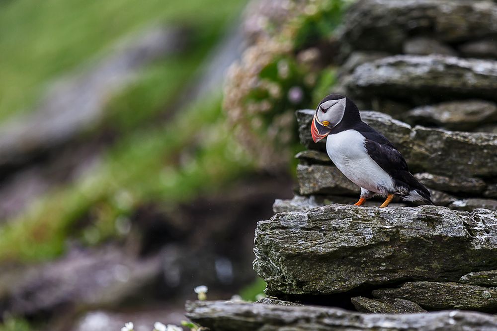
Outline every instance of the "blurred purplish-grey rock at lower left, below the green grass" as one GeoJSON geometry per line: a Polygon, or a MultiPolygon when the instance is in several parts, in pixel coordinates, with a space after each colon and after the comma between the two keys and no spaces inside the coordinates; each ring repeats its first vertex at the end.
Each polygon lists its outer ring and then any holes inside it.
{"type": "Polygon", "coordinates": [[[116,306],[161,275],[159,257],[137,260],[117,247],[72,252],[17,278],[0,279],[0,313],[34,315],[73,305],[116,306]]]}

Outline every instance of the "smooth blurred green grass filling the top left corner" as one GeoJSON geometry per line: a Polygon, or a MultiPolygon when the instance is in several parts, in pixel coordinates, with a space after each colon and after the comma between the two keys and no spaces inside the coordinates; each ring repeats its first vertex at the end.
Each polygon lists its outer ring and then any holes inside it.
{"type": "Polygon", "coordinates": [[[47,82],[110,49],[131,32],[164,22],[191,25],[213,37],[245,2],[0,1],[0,121],[32,109],[47,82]]]}

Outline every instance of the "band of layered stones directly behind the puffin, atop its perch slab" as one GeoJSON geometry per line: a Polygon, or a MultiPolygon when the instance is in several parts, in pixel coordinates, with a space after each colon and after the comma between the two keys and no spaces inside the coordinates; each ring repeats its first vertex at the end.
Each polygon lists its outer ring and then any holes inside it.
{"type": "MultiPolygon", "coordinates": [[[[312,141],[313,115],[314,110],[297,112],[300,139],[309,148],[297,154],[299,196],[277,200],[275,212],[331,202],[350,204],[359,198],[360,189],[341,174],[326,154],[326,142],[312,141]]],[[[497,134],[412,127],[374,111],[363,111],[361,117],[401,151],[411,172],[430,190],[436,205],[467,211],[497,210],[497,134]]],[[[380,202],[381,199],[369,205],[380,202]]]]}

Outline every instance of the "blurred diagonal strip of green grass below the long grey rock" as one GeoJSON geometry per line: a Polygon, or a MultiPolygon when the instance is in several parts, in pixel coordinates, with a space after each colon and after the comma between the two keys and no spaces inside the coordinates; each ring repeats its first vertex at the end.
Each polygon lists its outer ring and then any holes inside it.
{"type": "Polygon", "coordinates": [[[96,244],[118,236],[116,221],[136,206],[173,205],[215,192],[251,167],[225,130],[219,99],[202,100],[164,128],[124,138],[88,176],[0,227],[0,262],[54,258],[71,237],[96,244]],[[90,224],[75,233],[85,215],[90,224]]]}

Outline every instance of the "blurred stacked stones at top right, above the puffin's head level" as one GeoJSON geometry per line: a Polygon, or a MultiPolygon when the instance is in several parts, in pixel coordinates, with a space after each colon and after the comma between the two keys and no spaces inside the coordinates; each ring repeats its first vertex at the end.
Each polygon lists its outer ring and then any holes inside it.
{"type": "Polygon", "coordinates": [[[497,3],[359,0],[341,36],[342,92],[411,125],[497,132],[497,3]]]}

